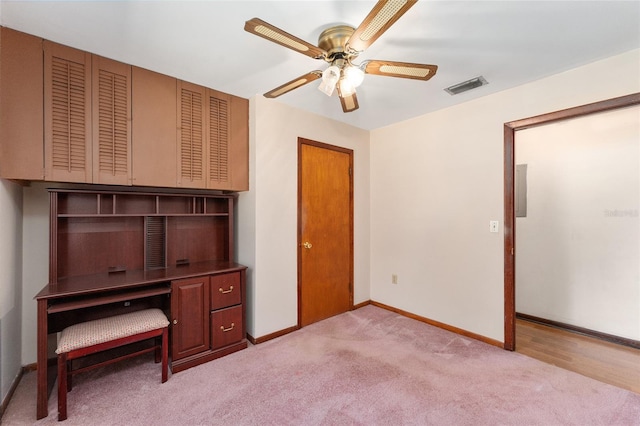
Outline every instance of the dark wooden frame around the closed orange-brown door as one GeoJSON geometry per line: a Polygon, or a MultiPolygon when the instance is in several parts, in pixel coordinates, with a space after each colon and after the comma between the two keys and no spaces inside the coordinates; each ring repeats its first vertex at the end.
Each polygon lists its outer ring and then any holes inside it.
{"type": "Polygon", "coordinates": [[[353,150],[298,137],[298,325],[302,327],[302,146],[310,145],[349,155],[349,310],[353,310],[353,150]]]}

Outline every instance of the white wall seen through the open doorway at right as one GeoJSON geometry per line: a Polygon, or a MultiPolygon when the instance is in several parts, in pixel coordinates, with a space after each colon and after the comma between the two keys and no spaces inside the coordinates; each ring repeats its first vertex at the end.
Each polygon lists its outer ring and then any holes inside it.
{"type": "Polygon", "coordinates": [[[640,340],[640,106],[516,132],[516,310],[640,340]]]}

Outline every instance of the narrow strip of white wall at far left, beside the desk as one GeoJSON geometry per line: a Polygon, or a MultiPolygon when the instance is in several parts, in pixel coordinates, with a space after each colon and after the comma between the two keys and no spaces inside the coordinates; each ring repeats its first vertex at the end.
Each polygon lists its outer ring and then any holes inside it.
{"type": "Polygon", "coordinates": [[[0,402],[22,369],[22,188],[0,179],[0,402]]]}

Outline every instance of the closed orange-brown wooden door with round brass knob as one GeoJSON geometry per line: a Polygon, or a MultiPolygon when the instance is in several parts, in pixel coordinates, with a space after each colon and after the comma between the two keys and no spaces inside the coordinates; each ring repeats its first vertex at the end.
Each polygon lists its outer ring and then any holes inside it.
{"type": "Polygon", "coordinates": [[[353,307],[353,151],[298,140],[298,324],[353,307]]]}

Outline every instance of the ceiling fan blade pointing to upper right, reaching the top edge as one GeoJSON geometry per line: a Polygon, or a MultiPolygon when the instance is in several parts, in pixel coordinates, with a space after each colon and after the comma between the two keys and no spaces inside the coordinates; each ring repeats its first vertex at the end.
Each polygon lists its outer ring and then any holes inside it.
{"type": "Polygon", "coordinates": [[[347,42],[347,51],[362,52],[418,0],[379,0],[347,42]]]}

